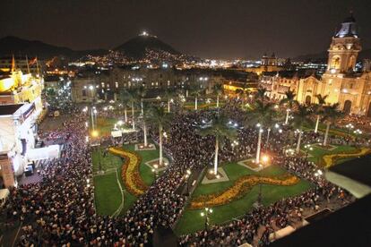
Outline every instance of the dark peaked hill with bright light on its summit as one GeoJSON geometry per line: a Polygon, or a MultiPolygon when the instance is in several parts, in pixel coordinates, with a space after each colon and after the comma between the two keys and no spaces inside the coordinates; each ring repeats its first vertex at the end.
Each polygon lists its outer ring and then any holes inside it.
{"type": "Polygon", "coordinates": [[[180,52],[161,41],[160,38],[144,35],[131,38],[124,44],[114,48],[114,50],[121,52],[123,55],[133,59],[142,59],[146,57],[149,52],[167,53],[168,55],[181,55],[180,52]]]}

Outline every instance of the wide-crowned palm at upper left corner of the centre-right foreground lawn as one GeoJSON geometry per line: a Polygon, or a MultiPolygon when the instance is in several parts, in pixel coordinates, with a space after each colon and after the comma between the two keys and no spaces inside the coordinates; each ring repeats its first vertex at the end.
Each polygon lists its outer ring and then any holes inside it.
{"type": "Polygon", "coordinates": [[[229,119],[225,115],[215,115],[210,123],[199,126],[197,130],[203,136],[212,135],[215,137],[214,175],[217,175],[220,146],[226,139],[236,140],[237,129],[229,124],[229,119]]]}

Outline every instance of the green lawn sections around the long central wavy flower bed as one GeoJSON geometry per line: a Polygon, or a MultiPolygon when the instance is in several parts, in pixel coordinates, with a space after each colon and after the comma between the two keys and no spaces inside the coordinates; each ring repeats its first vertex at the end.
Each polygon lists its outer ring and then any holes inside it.
{"type": "MultiPolygon", "coordinates": [[[[194,192],[193,197],[201,194],[210,194],[214,192],[220,192],[230,187],[238,177],[242,175],[255,175],[255,173],[244,166],[239,166],[236,163],[228,163],[223,166],[227,175],[229,175],[229,182],[222,183],[211,183],[211,184],[200,184],[194,192]]],[[[269,166],[265,168],[260,174],[262,175],[282,175],[287,173],[284,169],[279,166],[269,166]]],[[[298,184],[292,186],[279,186],[279,185],[268,185],[263,184],[263,205],[267,206],[272,202],[280,200],[282,198],[298,195],[305,192],[311,187],[311,183],[305,180],[301,180],[298,184]]],[[[258,198],[259,185],[255,185],[250,192],[239,199],[230,202],[227,205],[222,205],[213,208],[213,213],[210,217],[210,224],[223,224],[232,220],[236,217],[241,217],[246,214],[247,211],[252,209],[253,204],[258,198]]],[[[201,217],[201,209],[186,209],[183,217],[179,220],[176,227],[176,234],[189,234],[197,230],[203,229],[204,221],[201,217]]]]}

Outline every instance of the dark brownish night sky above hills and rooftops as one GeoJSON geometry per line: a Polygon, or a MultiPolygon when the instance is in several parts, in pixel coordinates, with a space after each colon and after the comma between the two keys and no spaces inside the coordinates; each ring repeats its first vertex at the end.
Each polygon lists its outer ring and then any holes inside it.
{"type": "Polygon", "coordinates": [[[0,37],[90,49],[116,47],[148,30],[204,58],[324,51],[352,9],[362,45],[371,47],[369,0],[12,0],[1,9],[0,37]]]}

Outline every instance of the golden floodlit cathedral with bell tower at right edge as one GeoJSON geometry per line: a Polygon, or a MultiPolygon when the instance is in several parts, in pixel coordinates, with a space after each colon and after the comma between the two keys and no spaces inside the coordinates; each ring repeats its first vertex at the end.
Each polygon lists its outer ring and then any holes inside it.
{"type": "Polygon", "coordinates": [[[316,103],[315,95],[328,95],[326,103],[339,103],[344,113],[371,117],[371,72],[367,66],[363,72],[356,72],[361,48],[356,20],[350,15],[332,37],[327,70],[322,78],[311,75],[287,80],[276,76],[263,79],[262,85],[271,98],[283,98],[284,92],[291,89],[296,92],[298,102],[312,104],[316,103]]]}

